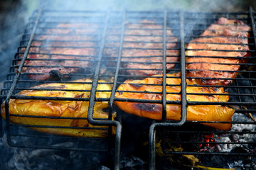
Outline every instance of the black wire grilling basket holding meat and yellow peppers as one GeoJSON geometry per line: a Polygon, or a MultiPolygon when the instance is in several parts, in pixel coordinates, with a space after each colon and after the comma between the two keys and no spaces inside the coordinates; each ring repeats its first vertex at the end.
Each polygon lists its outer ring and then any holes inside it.
{"type": "MultiPolygon", "coordinates": [[[[82,32],[82,31],[81,31],[82,32]]],[[[250,118],[253,117],[255,108],[255,12],[250,8],[247,12],[239,13],[196,13],[186,11],[170,11],[165,9],[164,11],[50,11],[50,10],[37,10],[33,13],[29,22],[24,30],[23,37],[18,47],[18,51],[14,56],[10,72],[7,75],[6,81],[4,81],[4,89],[1,90],[2,101],[5,101],[6,121],[3,123],[4,128],[1,131],[1,135],[6,132],[8,144],[12,147],[32,147],[32,148],[45,148],[45,149],[73,149],[84,151],[97,151],[97,152],[110,152],[114,148],[114,169],[119,169],[120,162],[120,150],[121,150],[121,132],[122,132],[122,116],[123,113],[117,106],[116,101],[121,102],[139,102],[139,103],[161,103],[162,104],[162,120],[156,120],[151,123],[149,128],[149,169],[155,169],[156,167],[156,142],[161,141],[161,149],[167,155],[184,155],[192,154],[200,157],[201,155],[207,157],[213,156],[235,156],[240,157],[255,157],[256,141],[245,140],[240,141],[233,139],[232,141],[220,140],[226,136],[245,136],[255,135],[255,121],[250,118]],[[228,86],[221,85],[188,85],[186,84],[186,44],[194,38],[198,38],[203,30],[206,30],[210,24],[218,21],[218,18],[225,17],[228,19],[238,19],[250,26],[250,38],[249,47],[251,57],[247,63],[240,63],[240,71],[238,77],[233,79],[233,84],[228,86]],[[151,23],[145,21],[152,21],[151,23]],[[78,23],[78,24],[91,24],[91,26],[97,26],[95,28],[80,28],[74,26],[73,28],[58,27],[60,23],[78,23]],[[127,24],[151,24],[159,25],[161,28],[127,28],[127,24]],[[63,30],[63,33],[49,33],[48,30],[54,29],[63,30]],[[65,30],[68,30],[67,33],[65,30]],[[74,40],[68,38],[70,30],[75,30],[75,35],[80,38],[74,40]],[[85,30],[85,33],[80,33],[78,30],[85,30]],[[92,30],[87,32],[86,30],[92,30]],[[134,34],[129,35],[126,31],[129,30],[156,30],[156,34],[134,34]],[[167,32],[171,30],[173,35],[167,35],[167,32]],[[159,32],[158,32],[159,31],[159,32]],[[160,33],[160,34],[159,34],[160,33]],[[41,36],[47,36],[47,40],[41,40],[41,36]],[[54,40],[54,36],[60,36],[62,39],[54,40]],[[135,36],[139,40],[126,40],[127,36],[135,36]],[[158,41],[150,41],[147,38],[159,38],[158,41]],[[178,38],[176,41],[170,41],[169,38],[178,38]],[[50,42],[58,42],[59,45],[52,45],[50,42]],[[43,42],[43,43],[42,43],[43,42]],[[92,45],[73,45],[79,42],[92,42],[92,45]],[[154,44],[152,47],[125,47],[125,43],[144,43],[154,44]],[[175,47],[168,47],[168,43],[176,43],[175,47]],[[38,45],[40,44],[40,45],[38,45]],[[156,46],[157,45],[157,46],[156,46]],[[72,55],[72,54],[53,54],[44,50],[43,52],[32,51],[33,48],[72,48],[72,49],[90,49],[96,51],[92,55],[72,55]],[[107,50],[116,51],[114,56],[106,54],[107,50]],[[129,99],[129,98],[117,98],[115,93],[122,93],[123,91],[117,90],[118,86],[124,84],[127,79],[145,79],[148,75],[131,75],[127,74],[127,70],[137,72],[138,70],[151,71],[152,69],[143,68],[127,68],[124,67],[125,63],[141,64],[139,60],[129,60],[129,58],[136,57],[138,59],[149,56],[124,56],[123,50],[156,50],[161,52],[162,62],[146,62],[146,64],[161,64],[161,69],[156,69],[161,72],[163,82],[160,84],[163,87],[161,92],[162,100],[141,100],[141,99],[129,99]],[[178,50],[177,56],[168,56],[167,50],[178,50]],[[33,59],[30,55],[45,55],[50,56],[48,58],[33,59]],[[39,72],[23,72],[24,68],[58,68],[58,65],[31,65],[28,61],[41,61],[43,62],[58,62],[58,59],[52,59],[53,56],[67,56],[67,61],[71,62],[86,62],[84,66],[63,66],[63,68],[78,69],[78,72],[60,74],[58,71],[51,72],[50,76],[53,79],[47,80],[33,80],[28,79],[29,75],[41,75],[39,72]],[[70,57],[79,57],[71,58],[70,57]],[[178,62],[166,62],[166,57],[178,57],[178,62]],[[126,60],[124,60],[126,59],[126,60]],[[127,60],[128,59],[128,60],[127,60]],[[88,64],[89,63],[89,64],[88,64]],[[166,68],[166,64],[175,64],[174,68],[166,68]],[[180,78],[181,101],[167,101],[166,100],[166,76],[167,73],[181,72],[180,78]],[[45,96],[21,96],[17,95],[18,92],[28,89],[33,89],[33,86],[38,84],[60,82],[70,83],[70,80],[91,78],[92,89],[90,90],[89,98],[59,98],[59,97],[45,97],[45,96]],[[100,79],[105,79],[106,82],[99,82],[100,79]],[[98,84],[110,84],[112,86],[110,98],[96,98],[96,93],[106,92],[98,91],[98,84]],[[186,92],[187,86],[206,86],[206,87],[223,87],[228,94],[230,100],[228,102],[203,102],[203,101],[187,101],[186,92]],[[37,116],[37,115],[13,115],[9,114],[9,101],[11,99],[23,99],[23,100],[51,100],[51,101],[87,101],[89,102],[89,108],[87,111],[87,119],[93,128],[93,130],[107,130],[107,137],[68,137],[61,135],[49,135],[43,132],[36,132],[29,128],[74,128],[78,127],[63,127],[63,126],[43,126],[43,125],[21,125],[10,122],[10,117],[18,118],[49,118],[49,119],[82,119],[82,118],[70,118],[70,117],[50,117],[50,116],[37,116]],[[109,113],[107,119],[95,119],[93,118],[93,108],[95,102],[104,101],[109,103],[109,107],[106,111],[109,113]],[[167,120],[166,118],[166,105],[178,104],[181,105],[181,120],[167,120]],[[195,105],[223,105],[235,108],[236,117],[232,122],[213,122],[213,121],[188,121],[186,120],[186,108],[187,106],[195,105]],[[114,118],[114,115],[117,117],[114,118]],[[240,116],[242,118],[240,118],[240,116]],[[113,120],[114,118],[114,120],[113,120]],[[206,127],[201,123],[230,123],[233,127],[250,126],[251,130],[237,130],[234,129],[223,131],[215,130],[214,128],[206,127]],[[105,125],[105,128],[102,128],[105,125]],[[113,127],[116,128],[113,132],[113,127]],[[191,128],[192,127],[192,128],[191,128]],[[114,133],[114,136],[112,135],[114,133]],[[210,137],[209,137],[210,135],[210,137]],[[157,138],[157,139],[156,139],[157,138]],[[41,139],[41,140],[38,140],[41,139]],[[71,142],[73,145],[60,146],[56,145],[58,142],[71,142]],[[170,146],[186,145],[181,151],[171,150],[170,146]],[[234,145],[242,147],[242,152],[239,149],[223,149],[225,145],[234,145]],[[214,148],[213,148],[214,146],[214,148]],[[217,147],[218,146],[218,147],[217,147]],[[220,148],[221,147],[221,148],[220,148]],[[217,149],[220,148],[220,149],[217,149]]],[[[50,51],[50,50],[49,50],[50,51]]],[[[220,50],[225,51],[225,50],[220,50]]],[[[154,70],[154,69],[153,69],[154,70]]],[[[218,71],[217,71],[218,72],[218,71]]],[[[198,77],[195,77],[198,78],[198,77]]],[[[202,79],[199,77],[199,79],[202,79]]],[[[212,79],[211,77],[205,79],[212,79]]],[[[159,84],[158,84],[159,85],[159,84]]],[[[38,89],[37,89],[38,90],[38,89]]],[[[48,91],[55,91],[56,89],[43,89],[48,91]]],[[[82,91],[82,89],[81,89],[82,91]]],[[[148,91],[142,91],[142,93],[149,93],[148,91]]],[[[201,95],[201,94],[195,94],[201,95]]],[[[126,120],[128,121],[128,120],[126,120]]],[[[1,122],[2,123],[2,122],[1,122]]],[[[82,129],[82,128],[81,128],[82,129]]]]}

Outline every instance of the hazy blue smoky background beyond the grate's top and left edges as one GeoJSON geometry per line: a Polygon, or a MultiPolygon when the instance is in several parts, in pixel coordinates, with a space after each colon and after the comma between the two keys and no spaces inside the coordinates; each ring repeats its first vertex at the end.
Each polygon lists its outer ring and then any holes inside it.
{"type": "MultiPolygon", "coordinates": [[[[28,22],[31,13],[37,8],[45,9],[63,9],[63,10],[131,10],[131,11],[151,11],[162,10],[169,8],[171,10],[186,10],[186,11],[219,11],[219,12],[236,12],[247,11],[248,6],[256,6],[255,1],[211,1],[211,0],[19,0],[6,1],[4,0],[1,9],[1,45],[0,45],[0,82],[6,79],[6,74],[9,72],[11,61],[14,59],[14,54],[21,40],[23,28],[28,22]]],[[[256,8],[256,7],[255,7],[256,8]]],[[[1,85],[0,85],[1,88],[1,85]]]]}

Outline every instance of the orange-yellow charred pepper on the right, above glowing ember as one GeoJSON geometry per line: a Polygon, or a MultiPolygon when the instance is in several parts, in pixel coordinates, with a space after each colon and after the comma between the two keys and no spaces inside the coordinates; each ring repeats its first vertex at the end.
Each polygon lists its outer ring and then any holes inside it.
{"type": "MultiPolygon", "coordinates": [[[[162,77],[158,75],[158,77],[162,77]]],[[[166,78],[166,100],[167,101],[181,101],[181,79],[171,78],[180,77],[179,73],[167,74],[166,78]]],[[[144,99],[144,100],[162,100],[162,78],[149,77],[142,80],[127,80],[124,84],[118,87],[118,92],[115,97],[129,98],[129,99],[144,99]],[[159,84],[159,85],[158,85],[159,84]],[[129,92],[126,92],[129,91],[129,92]]],[[[196,82],[187,80],[187,84],[196,84],[196,82]]],[[[224,88],[201,87],[201,86],[187,86],[187,100],[188,101],[209,101],[209,102],[227,102],[229,96],[224,88]],[[191,93],[191,94],[190,94],[191,93]],[[196,93],[196,94],[194,94],[196,93]],[[222,94],[222,95],[220,95],[222,94]]],[[[126,113],[139,115],[144,118],[151,118],[161,120],[162,105],[160,103],[139,103],[129,101],[116,101],[117,106],[126,113]]],[[[167,104],[166,118],[168,120],[181,119],[181,105],[167,104]]],[[[221,105],[196,105],[187,107],[187,120],[192,121],[231,121],[234,113],[232,108],[221,105]]],[[[228,130],[231,124],[227,123],[203,123],[210,127],[228,130]]]]}

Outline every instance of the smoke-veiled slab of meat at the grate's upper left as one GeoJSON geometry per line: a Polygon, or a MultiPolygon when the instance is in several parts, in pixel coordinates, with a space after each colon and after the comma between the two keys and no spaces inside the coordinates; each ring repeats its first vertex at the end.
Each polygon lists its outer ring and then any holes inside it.
{"type": "Polygon", "coordinates": [[[52,78],[53,71],[72,74],[85,70],[92,66],[92,56],[97,54],[95,42],[90,42],[95,37],[87,34],[96,31],[95,24],[82,23],[60,23],[48,29],[33,41],[22,72],[28,73],[30,79],[46,80],[52,78]]]}

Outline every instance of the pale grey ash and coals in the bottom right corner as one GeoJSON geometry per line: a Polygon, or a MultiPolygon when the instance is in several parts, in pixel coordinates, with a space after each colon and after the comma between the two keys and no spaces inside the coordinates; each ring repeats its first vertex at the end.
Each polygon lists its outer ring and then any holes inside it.
{"type": "MultiPolygon", "coordinates": [[[[233,115],[233,122],[252,123],[252,119],[241,113],[233,115]]],[[[256,125],[255,124],[233,124],[231,133],[213,135],[213,140],[218,143],[208,148],[208,152],[233,152],[252,154],[256,152],[256,125]],[[221,143],[225,142],[225,143],[221,143]]],[[[224,162],[223,162],[224,163],[224,162]]],[[[225,168],[236,170],[256,169],[256,157],[226,157],[225,168]],[[227,163],[228,162],[228,163],[227,163]]]]}

